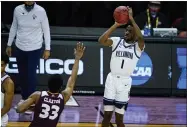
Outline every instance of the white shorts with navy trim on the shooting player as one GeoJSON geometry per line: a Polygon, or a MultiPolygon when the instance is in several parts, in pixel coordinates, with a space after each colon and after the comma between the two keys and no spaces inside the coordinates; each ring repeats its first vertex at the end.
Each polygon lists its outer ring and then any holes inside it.
{"type": "Polygon", "coordinates": [[[131,77],[108,74],[104,91],[104,110],[124,114],[130,99],[131,77]]]}

